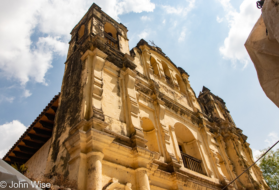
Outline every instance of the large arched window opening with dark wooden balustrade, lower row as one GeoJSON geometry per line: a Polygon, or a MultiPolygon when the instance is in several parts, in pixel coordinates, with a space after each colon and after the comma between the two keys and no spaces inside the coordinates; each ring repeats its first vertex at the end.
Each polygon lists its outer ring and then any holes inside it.
{"type": "Polygon", "coordinates": [[[181,123],[176,123],[174,125],[174,133],[184,167],[200,174],[206,173],[197,140],[190,129],[181,123]]]}

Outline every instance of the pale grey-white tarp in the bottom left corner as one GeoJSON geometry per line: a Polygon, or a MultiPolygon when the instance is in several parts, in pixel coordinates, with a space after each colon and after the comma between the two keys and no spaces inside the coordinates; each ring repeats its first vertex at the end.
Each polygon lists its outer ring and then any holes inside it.
{"type": "Polygon", "coordinates": [[[12,166],[0,159],[0,189],[4,190],[42,190],[41,188],[32,187],[30,179],[16,171],[12,166]],[[13,187],[11,187],[13,186],[13,187]]]}

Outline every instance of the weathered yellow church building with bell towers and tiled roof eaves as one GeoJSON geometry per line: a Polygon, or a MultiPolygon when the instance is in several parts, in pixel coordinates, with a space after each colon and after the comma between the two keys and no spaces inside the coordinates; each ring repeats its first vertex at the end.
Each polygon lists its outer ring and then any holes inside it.
{"type": "MultiPolygon", "coordinates": [[[[80,190],[221,190],[253,164],[225,102],[93,4],[70,33],[61,93],[4,156],[80,190]]],[[[267,190],[258,166],[229,190],[267,190]]]]}

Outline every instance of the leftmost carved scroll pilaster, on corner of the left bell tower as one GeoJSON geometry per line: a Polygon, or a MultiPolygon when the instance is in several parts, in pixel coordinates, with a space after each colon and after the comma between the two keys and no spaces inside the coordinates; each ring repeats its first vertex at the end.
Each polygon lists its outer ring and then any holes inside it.
{"type": "Polygon", "coordinates": [[[102,111],[103,77],[102,72],[107,55],[99,49],[87,50],[80,58],[87,69],[84,70],[86,82],[84,85],[83,118],[89,120],[92,117],[105,120],[102,111]]]}

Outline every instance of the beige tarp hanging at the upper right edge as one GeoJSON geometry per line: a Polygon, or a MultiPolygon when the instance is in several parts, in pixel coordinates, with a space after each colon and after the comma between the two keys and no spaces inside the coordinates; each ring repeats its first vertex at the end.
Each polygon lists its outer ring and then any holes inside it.
{"type": "Polygon", "coordinates": [[[245,47],[256,68],[260,86],[279,107],[279,0],[265,0],[262,15],[245,47]]]}

